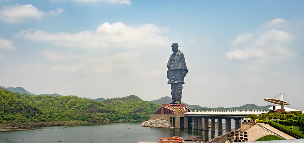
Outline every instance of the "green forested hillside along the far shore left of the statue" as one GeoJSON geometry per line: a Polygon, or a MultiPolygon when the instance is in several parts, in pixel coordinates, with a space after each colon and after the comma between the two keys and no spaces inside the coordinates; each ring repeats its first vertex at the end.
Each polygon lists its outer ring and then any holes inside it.
{"type": "Polygon", "coordinates": [[[77,96],[33,96],[0,88],[0,124],[148,120],[160,105],[135,95],[102,102],[77,96]]]}

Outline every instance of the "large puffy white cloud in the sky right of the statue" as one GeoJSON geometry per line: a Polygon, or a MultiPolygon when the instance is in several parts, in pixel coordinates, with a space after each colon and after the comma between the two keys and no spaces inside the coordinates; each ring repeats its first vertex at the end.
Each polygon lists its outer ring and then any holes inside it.
{"type": "Polygon", "coordinates": [[[293,37],[284,31],[270,30],[263,33],[255,41],[246,43],[246,48],[227,52],[226,58],[227,60],[248,60],[254,58],[259,60],[259,63],[282,61],[296,56],[296,53],[286,48],[293,37]]]}

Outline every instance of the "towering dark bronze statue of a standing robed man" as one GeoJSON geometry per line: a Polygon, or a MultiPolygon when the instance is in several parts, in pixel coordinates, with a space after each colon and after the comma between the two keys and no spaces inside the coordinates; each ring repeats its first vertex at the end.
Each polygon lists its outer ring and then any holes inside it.
{"type": "Polygon", "coordinates": [[[184,77],[188,73],[184,54],[178,50],[178,44],[172,43],[173,53],[170,55],[167,63],[168,84],[171,84],[172,102],[169,104],[180,104],[182,99],[182,90],[184,77]]]}

